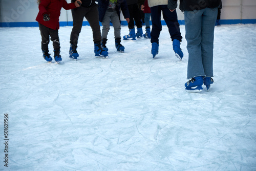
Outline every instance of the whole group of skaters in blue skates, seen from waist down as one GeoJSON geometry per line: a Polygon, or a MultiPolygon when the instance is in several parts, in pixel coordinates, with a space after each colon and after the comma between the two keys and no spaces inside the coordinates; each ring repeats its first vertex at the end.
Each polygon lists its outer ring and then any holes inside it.
{"type": "MultiPolygon", "coordinates": [[[[124,52],[121,45],[123,40],[150,38],[153,58],[158,54],[159,36],[162,30],[161,13],[168,27],[173,50],[182,60],[183,52],[180,48],[182,36],[176,13],[177,0],[37,0],[39,12],[36,17],[42,37],[41,50],[45,60],[53,59],[49,54],[50,37],[53,42],[54,60],[60,63],[60,43],[58,37],[59,16],[61,8],[71,9],[73,29],[70,35],[69,55],[77,59],[78,37],[81,32],[83,18],[90,24],[93,32],[94,52],[99,58],[108,58],[108,32],[110,23],[114,28],[115,47],[118,52],[124,52]],[[96,2],[97,1],[97,2],[96,2]],[[120,11],[128,23],[129,34],[121,37],[120,11]],[[141,11],[144,13],[145,33],[142,30],[141,11]],[[152,29],[150,27],[150,17],[152,29]],[[100,24],[102,24],[102,31],[100,24]],[[135,31],[135,26],[137,31],[135,31]]],[[[203,84],[208,91],[214,82],[213,75],[213,44],[214,28],[221,8],[221,0],[183,0],[180,10],[184,13],[185,38],[187,40],[188,66],[185,90],[187,92],[201,92],[203,84]]]]}

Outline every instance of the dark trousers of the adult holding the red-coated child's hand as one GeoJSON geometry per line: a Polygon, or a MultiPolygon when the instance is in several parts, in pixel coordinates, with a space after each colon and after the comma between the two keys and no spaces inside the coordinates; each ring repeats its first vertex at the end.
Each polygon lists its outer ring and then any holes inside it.
{"type": "Polygon", "coordinates": [[[72,9],[73,29],[70,35],[70,44],[77,47],[78,37],[81,32],[83,17],[86,17],[93,31],[94,43],[101,41],[98,5],[92,7],[79,7],[72,9]]]}

